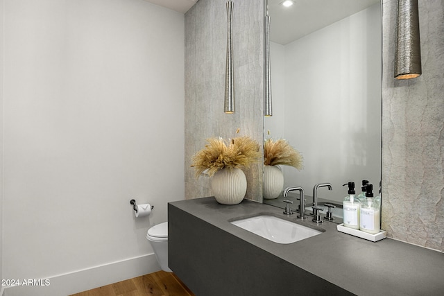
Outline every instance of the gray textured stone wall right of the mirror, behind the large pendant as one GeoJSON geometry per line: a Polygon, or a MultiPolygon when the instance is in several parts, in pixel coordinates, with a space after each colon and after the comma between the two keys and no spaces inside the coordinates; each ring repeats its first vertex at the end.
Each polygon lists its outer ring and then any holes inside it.
{"type": "Polygon", "coordinates": [[[444,1],[419,0],[422,76],[395,80],[396,0],[384,0],[382,229],[444,251],[444,1]]]}

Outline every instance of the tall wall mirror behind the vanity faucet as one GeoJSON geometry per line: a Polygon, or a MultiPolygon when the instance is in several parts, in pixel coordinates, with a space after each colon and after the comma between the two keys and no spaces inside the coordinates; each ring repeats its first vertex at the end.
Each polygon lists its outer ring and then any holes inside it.
{"type": "MultiPolygon", "coordinates": [[[[381,180],[382,17],[375,0],[268,0],[273,116],[264,139],[284,138],[304,157],[281,166],[284,188],[340,203],[353,181],[381,180]],[[268,134],[268,131],[270,134],[268,134]]],[[[296,195],[293,195],[296,196],[296,195]]],[[[282,196],[264,203],[284,207],[282,196]]],[[[298,201],[293,201],[296,207],[298,201]]]]}

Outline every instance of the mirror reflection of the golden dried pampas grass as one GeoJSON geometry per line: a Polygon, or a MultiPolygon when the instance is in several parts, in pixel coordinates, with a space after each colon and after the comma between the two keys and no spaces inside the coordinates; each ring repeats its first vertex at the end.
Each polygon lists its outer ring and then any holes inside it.
{"type": "Polygon", "coordinates": [[[304,168],[303,160],[302,155],[290,146],[287,140],[269,138],[264,142],[264,164],[266,166],[293,166],[300,171],[304,168]]]}

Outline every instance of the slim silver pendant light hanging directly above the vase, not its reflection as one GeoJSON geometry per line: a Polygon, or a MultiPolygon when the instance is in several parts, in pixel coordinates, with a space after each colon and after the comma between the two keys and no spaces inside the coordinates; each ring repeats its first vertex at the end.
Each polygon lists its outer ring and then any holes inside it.
{"type": "Polygon", "coordinates": [[[234,113],[234,78],[233,78],[233,42],[232,42],[232,15],[233,2],[227,2],[227,19],[228,19],[228,33],[227,33],[227,60],[225,67],[225,103],[224,112],[234,113]]]}

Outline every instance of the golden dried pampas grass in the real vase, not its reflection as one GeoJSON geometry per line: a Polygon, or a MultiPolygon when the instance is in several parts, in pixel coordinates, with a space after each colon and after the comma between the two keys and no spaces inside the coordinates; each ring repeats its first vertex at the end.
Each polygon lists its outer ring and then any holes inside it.
{"type": "Polygon", "coordinates": [[[206,141],[205,148],[192,158],[191,167],[196,169],[196,177],[204,172],[212,177],[223,168],[248,168],[251,164],[260,162],[262,157],[259,144],[248,136],[234,137],[228,139],[228,142],[221,137],[206,141]]]}

